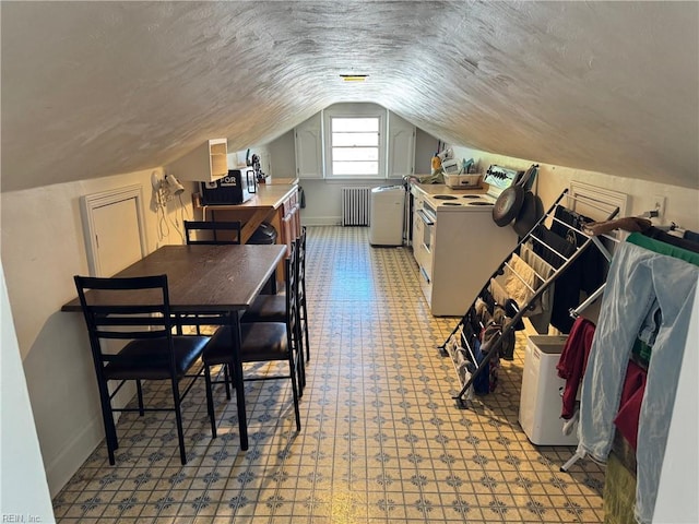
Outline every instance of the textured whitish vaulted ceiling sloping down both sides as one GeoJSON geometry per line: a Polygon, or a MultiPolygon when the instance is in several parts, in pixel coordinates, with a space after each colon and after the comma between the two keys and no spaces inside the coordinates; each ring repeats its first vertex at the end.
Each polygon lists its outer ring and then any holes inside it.
{"type": "Polygon", "coordinates": [[[7,2],[3,191],[372,102],[449,143],[699,186],[697,2],[7,2]],[[364,84],[340,73],[368,73],[364,84]]]}

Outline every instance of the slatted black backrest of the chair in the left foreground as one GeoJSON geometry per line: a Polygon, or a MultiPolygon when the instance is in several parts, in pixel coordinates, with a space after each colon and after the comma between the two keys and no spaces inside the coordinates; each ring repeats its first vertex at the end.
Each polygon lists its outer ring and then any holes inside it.
{"type": "MultiPolygon", "coordinates": [[[[163,338],[173,352],[173,315],[166,275],[131,278],[75,276],[78,297],[96,362],[118,360],[103,340],[163,338]]],[[[174,360],[173,360],[174,365],[174,360]]]]}

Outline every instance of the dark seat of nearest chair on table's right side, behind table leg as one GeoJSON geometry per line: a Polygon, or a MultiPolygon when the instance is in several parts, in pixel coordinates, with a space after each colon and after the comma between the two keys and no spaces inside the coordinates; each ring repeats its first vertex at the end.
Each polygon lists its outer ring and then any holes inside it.
{"type": "MultiPolygon", "coordinates": [[[[279,322],[263,322],[240,325],[242,362],[287,360],[288,343],[286,325],[279,322]]],[[[228,364],[232,360],[230,327],[220,327],[211,337],[203,355],[206,366],[228,364]]]]}

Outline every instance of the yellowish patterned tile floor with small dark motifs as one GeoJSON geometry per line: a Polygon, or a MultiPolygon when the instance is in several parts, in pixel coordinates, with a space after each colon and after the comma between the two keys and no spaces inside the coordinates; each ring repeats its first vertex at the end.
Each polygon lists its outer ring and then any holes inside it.
{"type": "Polygon", "coordinates": [[[573,449],[534,446],[519,427],[524,335],[498,389],[458,409],[453,366],[436,349],[458,319],[429,314],[408,248],[370,248],[367,234],[308,228],[299,434],[285,381],[248,383],[247,452],[235,401],[215,390],[212,440],[203,389],[192,390],[186,466],[171,414],[125,414],[117,465],[99,445],[55,498],[58,522],[602,522],[601,466],[560,473],[573,449]]]}

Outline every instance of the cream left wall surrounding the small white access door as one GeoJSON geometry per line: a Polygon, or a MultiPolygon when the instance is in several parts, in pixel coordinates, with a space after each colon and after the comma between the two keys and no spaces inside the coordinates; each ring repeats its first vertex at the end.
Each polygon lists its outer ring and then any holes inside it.
{"type": "MultiPolygon", "coordinates": [[[[60,312],[76,296],[72,276],[88,272],[80,196],[140,183],[147,206],[147,251],[182,243],[175,224],[181,230],[182,216],[191,217],[194,186],[185,183],[185,214],[176,200],[163,219],[153,205],[151,172],[1,193],[2,264],[51,496],[104,436],[84,321],[60,312]]],[[[162,177],[162,170],[156,172],[162,177]]],[[[3,322],[8,313],[2,311],[3,322]]]]}

